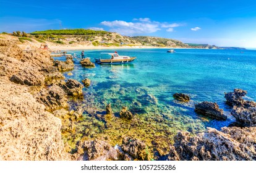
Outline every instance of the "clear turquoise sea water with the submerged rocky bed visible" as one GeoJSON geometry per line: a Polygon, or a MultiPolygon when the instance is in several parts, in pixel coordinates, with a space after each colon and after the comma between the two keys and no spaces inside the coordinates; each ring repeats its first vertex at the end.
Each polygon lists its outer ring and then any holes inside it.
{"type": "MultiPolygon", "coordinates": [[[[93,69],[81,67],[79,59],[75,59],[73,75],[67,75],[68,72],[64,75],[80,82],[90,78],[92,85],[83,89],[86,100],[83,104],[89,113],[95,109],[104,111],[108,103],[116,114],[122,106],[127,106],[138,116],[174,119],[159,125],[173,125],[176,130],[190,132],[200,132],[206,127],[220,129],[235,122],[229,106],[224,104],[224,92],[242,88],[248,91],[247,99],[256,100],[256,51],[176,49],[176,53],[166,53],[166,50],[121,49],[117,51],[119,55],[137,59],[132,64],[96,64],[93,69]],[[176,101],[174,93],[188,94],[191,101],[176,101]],[[201,101],[218,103],[228,119],[219,121],[198,115],[194,104],[201,101]]],[[[85,54],[94,62],[101,53],[114,51],[89,50],[85,54]]]]}

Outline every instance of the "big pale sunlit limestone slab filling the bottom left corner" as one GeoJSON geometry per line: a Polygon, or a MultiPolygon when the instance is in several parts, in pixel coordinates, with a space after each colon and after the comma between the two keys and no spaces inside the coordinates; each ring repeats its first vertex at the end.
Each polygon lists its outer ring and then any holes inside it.
{"type": "Polygon", "coordinates": [[[0,160],[67,160],[61,120],[28,93],[0,79],[0,160]]]}

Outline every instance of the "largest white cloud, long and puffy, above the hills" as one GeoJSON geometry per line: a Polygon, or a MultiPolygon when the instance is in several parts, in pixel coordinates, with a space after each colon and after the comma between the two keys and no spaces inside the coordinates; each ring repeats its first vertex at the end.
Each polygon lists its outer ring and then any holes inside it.
{"type": "Polygon", "coordinates": [[[154,33],[161,28],[168,28],[166,31],[173,32],[174,27],[179,27],[181,24],[151,21],[149,18],[133,19],[133,22],[123,20],[103,21],[100,23],[110,28],[110,32],[117,32],[122,35],[140,35],[154,33]]]}

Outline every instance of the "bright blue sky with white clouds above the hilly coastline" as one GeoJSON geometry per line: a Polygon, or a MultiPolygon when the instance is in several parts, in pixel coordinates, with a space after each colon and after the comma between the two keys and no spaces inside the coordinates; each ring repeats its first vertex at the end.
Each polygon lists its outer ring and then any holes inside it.
{"type": "Polygon", "coordinates": [[[256,48],[256,1],[0,0],[0,32],[92,28],[256,48]]]}

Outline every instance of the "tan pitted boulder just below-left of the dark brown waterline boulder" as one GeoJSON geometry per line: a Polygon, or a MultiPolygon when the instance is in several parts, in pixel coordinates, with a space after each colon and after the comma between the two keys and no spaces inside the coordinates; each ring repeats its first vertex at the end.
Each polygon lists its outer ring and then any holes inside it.
{"type": "Polygon", "coordinates": [[[66,93],[55,84],[48,88],[43,88],[35,97],[40,103],[45,104],[46,109],[49,111],[68,107],[66,93]]]}

